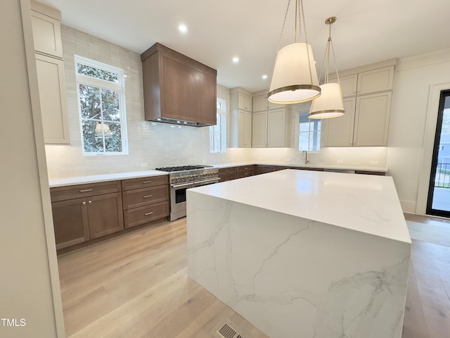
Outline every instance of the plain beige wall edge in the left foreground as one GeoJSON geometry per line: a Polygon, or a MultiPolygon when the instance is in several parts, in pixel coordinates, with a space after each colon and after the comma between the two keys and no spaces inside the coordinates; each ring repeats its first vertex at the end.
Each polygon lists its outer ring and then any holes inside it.
{"type": "Polygon", "coordinates": [[[0,337],[64,337],[30,1],[0,13],[0,337]]]}

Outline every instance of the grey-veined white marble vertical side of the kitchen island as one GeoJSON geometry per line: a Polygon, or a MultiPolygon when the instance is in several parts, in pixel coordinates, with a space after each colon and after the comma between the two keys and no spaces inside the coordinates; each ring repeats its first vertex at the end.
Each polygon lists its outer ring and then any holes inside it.
{"type": "Polygon", "coordinates": [[[401,337],[409,242],[200,190],[188,273],[269,337],[401,337]]]}

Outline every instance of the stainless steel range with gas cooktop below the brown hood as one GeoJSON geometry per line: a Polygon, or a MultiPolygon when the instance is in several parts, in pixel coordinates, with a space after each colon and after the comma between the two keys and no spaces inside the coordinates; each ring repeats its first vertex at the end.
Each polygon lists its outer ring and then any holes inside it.
{"type": "Polygon", "coordinates": [[[170,220],[186,216],[186,189],[219,182],[219,169],[206,165],[156,168],[169,172],[170,220]]]}

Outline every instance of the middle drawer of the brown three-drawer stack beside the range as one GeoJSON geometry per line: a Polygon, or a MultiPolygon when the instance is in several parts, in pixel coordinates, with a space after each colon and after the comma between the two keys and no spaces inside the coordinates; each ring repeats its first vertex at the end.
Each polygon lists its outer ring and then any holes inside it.
{"type": "Polygon", "coordinates": [[[122,199],[124,203],[124,210],[139,206],[146,206],[156,202],[168,201],[169,186],[160,185],[158,187],[127,190],[122,192],[122,199]]]}

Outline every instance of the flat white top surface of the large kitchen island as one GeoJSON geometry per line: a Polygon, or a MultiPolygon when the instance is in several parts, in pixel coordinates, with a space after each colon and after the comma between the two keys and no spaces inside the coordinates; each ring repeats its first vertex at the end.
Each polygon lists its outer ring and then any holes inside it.
{"type": "Polygon", "coordinates": [[[281,170],[192,190],[411,243],[390,176],[281,170]]]}

